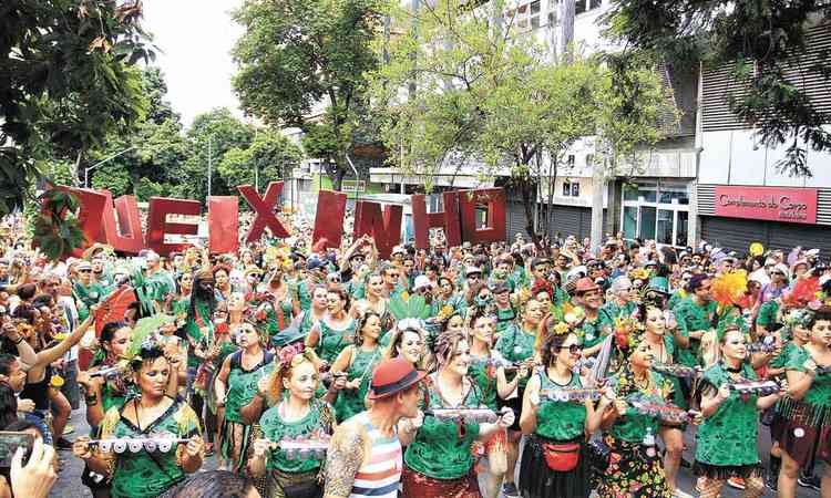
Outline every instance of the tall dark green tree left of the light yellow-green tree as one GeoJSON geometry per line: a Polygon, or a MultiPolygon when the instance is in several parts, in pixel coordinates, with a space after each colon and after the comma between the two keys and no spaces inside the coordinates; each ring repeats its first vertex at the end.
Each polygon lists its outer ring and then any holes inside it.
{"type": "Polygon", "coordinates": [[[371,41],[383,3],[246,0],[234,12],[245,29],[234,49],[234,89],[243,107],[306,133],[307,156],[331,165],[336,189],[350,172],[347,155],[367,142],[365,73],[378,63],[371,41]]]}

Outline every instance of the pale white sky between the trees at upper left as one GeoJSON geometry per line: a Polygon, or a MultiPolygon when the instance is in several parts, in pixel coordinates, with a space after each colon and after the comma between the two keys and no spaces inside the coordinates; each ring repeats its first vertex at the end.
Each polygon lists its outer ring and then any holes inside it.
{"type": "Polygon", "coordinates": [[[158,48],[156,65],[167,82],[167,100],[188,126],[194,116],[229,107],[242,116],[230,87],[230,56],[242,28],[229,11],[242,0],[144,0],[144,28],[158,48]]]}

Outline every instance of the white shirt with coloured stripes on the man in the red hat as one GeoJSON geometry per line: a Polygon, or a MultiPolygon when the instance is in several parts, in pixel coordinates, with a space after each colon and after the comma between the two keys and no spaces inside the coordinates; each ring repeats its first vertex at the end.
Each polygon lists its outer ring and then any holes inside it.
{"type": "Polygon", "coordinates": [[[398,433],[392,437],[384,437],[369,422],[367,412],[356,417],[359,417],[358,421],[366,427],[372,447],[369,458],[355,475],[352,494],[349,498],[396,498],[402,469],[401,443],[398,440],[398,433]]]}

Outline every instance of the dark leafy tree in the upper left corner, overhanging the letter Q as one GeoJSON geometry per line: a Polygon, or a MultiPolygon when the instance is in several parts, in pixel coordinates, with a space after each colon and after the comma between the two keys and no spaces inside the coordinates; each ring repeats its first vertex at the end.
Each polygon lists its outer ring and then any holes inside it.
{"type": "MultiPolygon", "coordinates": [[[[107,133],[142,117],[145,101],[133,66],[152,52],[141,9],[140,1],[0,4],[0,211],[22,205],[39,160],[68,159],[76,167],[107,133]]],[[[52,258],[78,242],[78,227],[57,212],[39,219],[35,234],[52,258]]]]}

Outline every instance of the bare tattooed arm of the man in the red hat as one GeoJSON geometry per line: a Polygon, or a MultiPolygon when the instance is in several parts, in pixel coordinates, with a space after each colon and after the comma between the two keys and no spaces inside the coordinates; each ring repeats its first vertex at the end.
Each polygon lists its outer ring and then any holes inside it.
{"type": "Polygon", "coordinates": [[[367,455],[367,433],[360,424],[346,423],[335,429],[326,455],[326,492],[324,498],[347,498],[352,492],[355,475],[367,455]]]}

